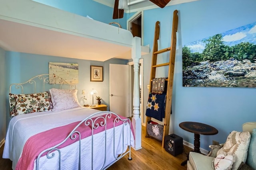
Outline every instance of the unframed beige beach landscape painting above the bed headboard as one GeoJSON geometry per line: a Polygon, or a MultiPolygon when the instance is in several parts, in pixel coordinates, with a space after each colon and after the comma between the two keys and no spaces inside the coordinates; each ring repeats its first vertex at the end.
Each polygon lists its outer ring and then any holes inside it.
{"type": "MultiPolygon", "coordinates": [[[[69,84],[78,84],[78,64],[49,62],[49,74],[60,76],[69,84]]],[[[50,77],[50,80],[51,79],[53,78],[50,77]]],[[[61,80],[58,81],[58,79],[56,79],[55,83],[60,84],[61,82],[61,80]]]]}

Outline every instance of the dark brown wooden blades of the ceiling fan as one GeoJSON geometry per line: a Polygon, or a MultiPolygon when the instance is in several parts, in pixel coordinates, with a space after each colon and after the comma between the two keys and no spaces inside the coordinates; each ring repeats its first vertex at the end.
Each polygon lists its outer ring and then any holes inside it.
{"type": "MultiPolygon", "coordinates": [[[[160,8],[164,8],[171,0],[150,0],[160,8]]],[[[123,18],[124,17],[124,10],[118,9],[119,0],[115,0],[114,4],[114,12],[113,12],[113,19],[123,18]]]]}

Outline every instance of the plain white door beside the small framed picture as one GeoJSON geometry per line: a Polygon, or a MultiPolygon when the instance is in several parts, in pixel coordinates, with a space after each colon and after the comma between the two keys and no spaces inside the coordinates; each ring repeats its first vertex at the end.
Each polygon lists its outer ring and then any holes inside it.
{"type": "Polygon", "coordinates": [[[129,117],[129,66],[109,64],[109,110],[129,117]]]}

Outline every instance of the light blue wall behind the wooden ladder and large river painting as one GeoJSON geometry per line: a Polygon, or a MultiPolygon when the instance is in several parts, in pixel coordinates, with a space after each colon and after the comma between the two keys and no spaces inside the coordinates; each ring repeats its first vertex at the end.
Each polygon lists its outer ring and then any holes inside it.
{"type": "MultiPolygon", "coordinates": [[[[178,36],[172,98],[170,133],[194,143],[194,134],[179,127],[183,121],[197,121],[216,127],[214,136],[201,135],[201,147],[208,150],[212,140],[224,143],[228,134],[241,131],[242,124],[256,121],[256,88],[218,88],[182,86],[182,46],[256,21],[255,0],[199,0],[144,11],[144,45],[152,49],[154,25],[160,21],[159,49],[170,47],[172,15],[178,10],[178,36]]],[[[144,62],[151,64],[151,54],[144,62]]],[[[163,55],[167,60],[169,53],[163,55]]],[[[168,61],[167,61],[168,62],[168,61]]],[[[150,66],[144,64],[144,78],[149,82],[150,66]]],[[[167,74],[166,71],[158,75],[167,74]]],[[[161,76],[160,76],[161,77],[161,76]]],[[[148,82],[146,82],[148,84],[148,82]]],[[[147,92],[145,89],[144,92],[147,92]]]]}

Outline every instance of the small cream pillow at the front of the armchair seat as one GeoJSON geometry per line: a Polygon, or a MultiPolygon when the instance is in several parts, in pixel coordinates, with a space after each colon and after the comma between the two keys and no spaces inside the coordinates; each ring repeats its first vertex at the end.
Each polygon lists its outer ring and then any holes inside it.
{"type": "Polygon", "coordinates": [[[234,162],[235,157],[231,154],[218,154],[216,158],[212,160],[213,168],[215,170],[230,170],[234,162]]]}

